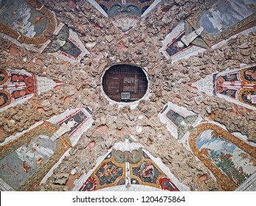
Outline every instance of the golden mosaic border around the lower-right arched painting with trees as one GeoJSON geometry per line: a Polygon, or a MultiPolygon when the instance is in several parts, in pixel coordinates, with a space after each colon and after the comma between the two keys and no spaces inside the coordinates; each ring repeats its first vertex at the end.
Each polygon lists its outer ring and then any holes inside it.
{"type": "Polygon", "coordinates": [[[211,160],[209,160],[207,157],[204,157],[204,155],[202,155],[197,149],[196,139],[201,134],[201,132],[204,132],[207,129],[214,129],[216,132],[224,136],[224,138],[231,141],[236,146],[241,148],[243,151],[250,154],[251,157],[256,158],[255,147],[245,143],[241,139],[235,137],[235,135],[232,135],[231,133],[227,132],[225,129],[222,129],[221,127],[218,127],[217,125],[211,123],[200,124],[198,127],[196,127],[193,134],[190,135],[189,137],[190,148],[192,149],[196,157],[198,157],[198,159],[201,160],[207,166],[207,168],[210,169],[210,171],[212,171],[215,177],[218,177],[218,182],[221,185],[221,187],[224,188],[224,190],[234,191],[235,188],[238,188],[238,185],[235,182],[233,182],[229,177],[227,177],[226,174],[224,174],[224,172],[221,171],[221,169],[215,166],[211,160]]]}

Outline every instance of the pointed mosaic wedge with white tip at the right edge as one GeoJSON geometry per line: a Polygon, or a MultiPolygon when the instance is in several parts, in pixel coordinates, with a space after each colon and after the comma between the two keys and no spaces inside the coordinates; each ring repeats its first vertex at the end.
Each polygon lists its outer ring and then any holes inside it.
{"type": "Polygon", "coordinates": [[[211,74],[192,84],[209,95],[256,110],[256,66],[211,74]]]}

